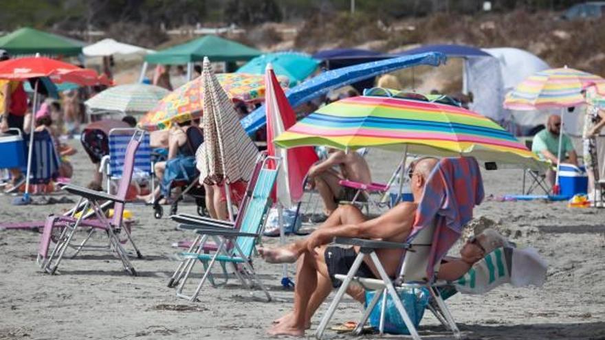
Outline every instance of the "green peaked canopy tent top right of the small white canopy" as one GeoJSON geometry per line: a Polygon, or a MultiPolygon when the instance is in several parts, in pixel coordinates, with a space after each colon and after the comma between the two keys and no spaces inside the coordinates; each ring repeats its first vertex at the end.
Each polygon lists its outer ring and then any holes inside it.
{"type": "Polygon", "coordinates": [[[154,54],[145,56],[145,61],[151,64],[180,65],[203,60],[208,56],[212,61],[243,61],[250,60],[263,54],[259,49],[223,39],[219,36],[208,35],[193,39],[182,45],[162,49],[154,54]]]}

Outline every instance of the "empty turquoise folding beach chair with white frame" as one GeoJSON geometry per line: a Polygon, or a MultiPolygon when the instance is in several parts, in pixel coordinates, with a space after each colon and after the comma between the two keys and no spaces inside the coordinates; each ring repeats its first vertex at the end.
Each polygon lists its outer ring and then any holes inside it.
{"type": "Polygon", "coordinates": [[[252,267],[252,253],[254,252],[256,241],[262,235],[267,211],[272,205],[270,194],[276,181],[279,163],[280,160],[276,157],[266,157],[263,160],[263,166],[252,191],[252,198],[245,212],[243,212],[239,230],[225,227],[222,223],[210,222],[204,223],[203,227],[200,227],[199,224],[184,224],[180,226],[183,229],[195,229],[195,232],[202,236],[199,247],[203,247],[206,244],[209,236],[214,239],[214,242],[218,246],[217,251],[214,251],[212,254],[199,252],[181,254],[184,258],[196,258],[200,262],[207,262],[208,264],[204,266],[206,267],[206,271],[192,295],[185,295],[182,292],[195,262],[186,268],[177,288],[177,297],[195,301],[204,282],[210,277],[214,263],[219,262],[230,264],[234,269],[236,277],[238,277],[246,288],[251,288],[253,283],[258,284],[265,295],[267,295],[267,299],[271,300],[271,295],[267,291],[267,288],[263,286],[263,282],[259,280],[254,267],[252,267]],[[272,166],[269,161],[273,161],[275,166],[272,166]],[[230,249],[228,248],[229,243],[232,245],[230,249]],[[237,269],[237,264],[241,264],[243,270],[237,269]]]}

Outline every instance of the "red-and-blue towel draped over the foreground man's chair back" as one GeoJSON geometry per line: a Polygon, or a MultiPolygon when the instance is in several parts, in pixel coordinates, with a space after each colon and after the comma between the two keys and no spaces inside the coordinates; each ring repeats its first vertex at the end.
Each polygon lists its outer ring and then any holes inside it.
{"type": "Polygon", "coordinates": [[[444,158],[432,170],[426,182],[421,204],[408,240],[431,223],[436,223],[428,277],[433,276],[434,264],[454,245],[466,223],[472,219],[475,205],[483,201],[481,170],[473,157],[444,158]]]}

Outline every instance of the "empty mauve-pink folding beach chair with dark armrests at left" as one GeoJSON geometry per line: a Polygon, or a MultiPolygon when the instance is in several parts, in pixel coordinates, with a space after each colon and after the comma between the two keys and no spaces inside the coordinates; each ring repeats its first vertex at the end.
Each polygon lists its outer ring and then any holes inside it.
{"type": "Polygon", "coordinates": [[[88,212],[89,209],[91,209],[92,212],[94,212],[96,219],[85,219],[86,214],[80,214],[80,216],[76,218],[76,209],[74,209],[74,214],[70,216],[48,216],[44,225],[38,250],[39,263],[41,264],[43,271],[51,274],[55,273],[59,263],[61,262],[61,259],[63,258],[65,250],[67,247],[71,247],[70,244],[74,239],[76,231],[81,228],[89,228],[84,240],[76,247],[76,254],[74,254],[74,256],[76,256],[77,253],[83,249],[83,247],[85,247],[89,238],[92,236],[92,234],[94,234],[94,231],[96,229],[101,229],[102,231],[105,231],[105,234],[107,234],[109,238],[109,248],[113,249],[113,251],[115,251],[115,253],[118,255],[118,258],[120,258],[122,261],[124,269],[131,275],[136,275],[136,271],[128,259],[128,254],[122,247],[122,240],[120,240],[119,236],[122,231],[124,231],[125,240],[131,242],[137,253],[137,256],[139,258],[142,257],[139,249],[137,249],[131,238],[130,230],[122,223],[122,212],[124,212],[126,192],[132,179],[135,165],[135,152],[143,137],[144,131],[136,131],[132,135],[131,141],[126,147],[126,152],[124,154],[124,168],[122,169],[122,179],[120,179],[118,193],[115,196],[103,192],[76,187],[74,185],[63,186],[63,190],[80,196],[78,203],[76,203],[76,207],[83,205],[83,208],[81,209],[82,212],[88,212]],[[109,201],[113,203],[113,218],[111,218],[111,220],[105,217],[102,201],[109,201]],[[50,239],[52,238],[52,232],[55,227],[62,227],[61,234],[58,236],[56,246],[50,253],[50,256],[47,256],[50,239]]]}

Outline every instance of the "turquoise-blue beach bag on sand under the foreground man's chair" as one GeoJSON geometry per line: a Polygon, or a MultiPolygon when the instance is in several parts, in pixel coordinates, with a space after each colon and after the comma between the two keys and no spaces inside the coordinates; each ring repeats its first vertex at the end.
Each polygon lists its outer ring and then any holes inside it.
{"type": "MultiPolygon", "coordinates": [[[[367,304],[373,299],[375,291],[366,291],[366,307],[367,304]]],[[[384,292],[386,293],[386,291],[384,292]]],[[[426,305],[428,305],[428,299],[430,298],[430,292],[427,288],[404,288],[397,289],[399,298],[404,305],[404,308],[408,312],[410,320],[414,327],[418,327],[420,320],[424,315],[426,305]]],[[[376,329],[380,327],[380,311],[382,310],[382,297],[378,300],[378,303],[370,314],[370,325],[376,329]]],[[[391,295],[386,295],[386,309],[384,310],[384,332],[390,334],[404,334],[409,335],[410,331],[404,323],[404,319],[401,318],[399,310],[395,307],[395,302],[391,295]]]]}

